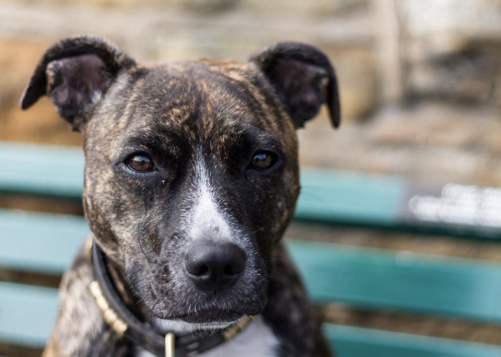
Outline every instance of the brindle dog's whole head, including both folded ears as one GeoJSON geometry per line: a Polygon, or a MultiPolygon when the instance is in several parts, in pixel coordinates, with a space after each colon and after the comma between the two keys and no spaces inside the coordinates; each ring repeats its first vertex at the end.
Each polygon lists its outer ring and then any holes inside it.
{"type": "Polygon", "coordinates": [[[295,128],[323,102],[339,121],[325,56],[286,43],[246,64],[141,65],[70,38],[21,106],[45,93],[84,135],[85,215],[136,299],[197,324],[259,314],[300,189],[295,128]]]}

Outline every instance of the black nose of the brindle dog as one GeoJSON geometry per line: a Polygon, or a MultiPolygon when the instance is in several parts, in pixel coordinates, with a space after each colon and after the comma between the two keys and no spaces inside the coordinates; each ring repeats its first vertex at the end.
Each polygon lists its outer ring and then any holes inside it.
{"type": "Polygon", "coordinates": [[[186,253],[186,270],[199,289],[217,294],[235,284],[245,261],[245,252],[235,244],[194,244],[186,253]]]}

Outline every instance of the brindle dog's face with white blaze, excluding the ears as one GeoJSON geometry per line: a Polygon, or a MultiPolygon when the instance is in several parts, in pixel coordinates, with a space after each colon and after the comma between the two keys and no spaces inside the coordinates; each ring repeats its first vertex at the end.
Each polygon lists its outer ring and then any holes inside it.
{"type": "Polygon", "coordinates": [[[299,193],[297,145],[249,76],[234,63],[137,66],[85,128],[86,216],[158,317],[234,321],[264,305],[299,193]]]}

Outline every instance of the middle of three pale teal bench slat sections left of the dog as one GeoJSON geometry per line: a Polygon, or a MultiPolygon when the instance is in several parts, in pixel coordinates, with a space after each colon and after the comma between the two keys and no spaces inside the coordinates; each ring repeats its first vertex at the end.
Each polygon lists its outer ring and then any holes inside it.
{"type": "Polygon", "coordinates": [[[62,274],[89,233],[82,217],[0,209],[0,267],[62,274]]]}

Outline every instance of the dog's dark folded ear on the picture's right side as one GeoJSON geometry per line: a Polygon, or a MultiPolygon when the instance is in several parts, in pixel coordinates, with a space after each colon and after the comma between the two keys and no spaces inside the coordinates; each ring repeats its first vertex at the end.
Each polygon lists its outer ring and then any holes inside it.
{"type": "Polygon", "coordinates": [[[254,62],[275,88],[296,128],[316,115],[323,103],[329,106],[331,122],[339,126],[337,79],[327,57],[312,46],[281,42],[255,54],[254,62]]]}

